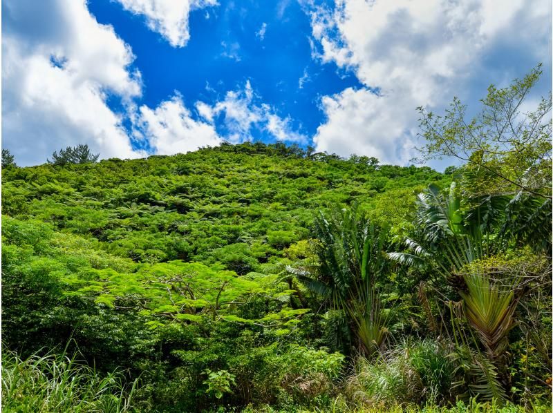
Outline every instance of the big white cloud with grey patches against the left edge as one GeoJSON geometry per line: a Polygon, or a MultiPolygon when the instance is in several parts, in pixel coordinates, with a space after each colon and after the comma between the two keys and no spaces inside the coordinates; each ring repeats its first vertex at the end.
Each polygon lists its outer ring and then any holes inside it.
{"type": "Polygon", "coordinates": [[[131,102],[140,73],[129,46],[97,23],[84,0],[3,2],[3,146],[39,164],[86,143],[101,157],[136,157],[108,95],[131,102]]]}

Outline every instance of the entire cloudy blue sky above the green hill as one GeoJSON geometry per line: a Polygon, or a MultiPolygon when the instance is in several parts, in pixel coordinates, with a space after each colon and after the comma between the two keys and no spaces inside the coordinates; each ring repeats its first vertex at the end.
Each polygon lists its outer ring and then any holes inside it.
{"type": "MultiPolygon", "coordinates": [[[[3,0],[2,147],[20,166],[223,141],[407,165],[418,113],[543,63],[550,0],[3,0]]],[[[449,162],[451,163],[451,162],[449,162]]],[[[447,162],[431,164],[443,169],[447,162]]]]}

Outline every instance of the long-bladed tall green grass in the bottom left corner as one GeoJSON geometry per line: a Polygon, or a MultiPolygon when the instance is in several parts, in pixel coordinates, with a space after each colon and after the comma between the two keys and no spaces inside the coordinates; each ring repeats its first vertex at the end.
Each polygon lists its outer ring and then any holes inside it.
{"type": "Polygon", "coordinates": [[[2,411],[20,413],[133,412],[137,382],[124,385],[120,372],[100,376],[77,354],[32,355],[22,360],[2,352],[2,411]]]}

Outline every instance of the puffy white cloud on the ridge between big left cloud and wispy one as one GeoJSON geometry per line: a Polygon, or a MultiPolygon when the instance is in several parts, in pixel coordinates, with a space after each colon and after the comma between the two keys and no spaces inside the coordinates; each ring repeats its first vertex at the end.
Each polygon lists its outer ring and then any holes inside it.
{"type": "Polygon", "coordinates": [[[194,120],[178,95],[162,102],[155,109],[141,106],[138,128],[160,155],[185,153],[195,151],[200,146],[217,146],[221,143],[214,126],[194,120]]]}

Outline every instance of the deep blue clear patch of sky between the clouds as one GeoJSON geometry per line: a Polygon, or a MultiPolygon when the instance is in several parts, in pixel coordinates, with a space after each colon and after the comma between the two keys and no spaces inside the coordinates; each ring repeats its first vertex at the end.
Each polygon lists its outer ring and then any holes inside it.
{"type": "MultiPolygon", "coordinates": [[[[297,1],[220,1],[194,10],[194,35],[182,48],[147,30],[144,17],[129,15],[120,3],[91,0],[88,9],[131,46],[144,84],[141,102],[152,107],[175,90],[187,106],[216,102],[250,80],[260,100],[290,115],[294,130],[313,135],[323,121],[321,95],[362,87],[354,73],[312,59],[310,19],[297,1]]],[[[252,139],[271,136],[253,128],[252,139]]]]}

